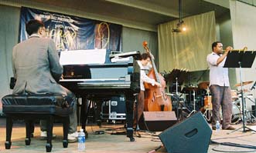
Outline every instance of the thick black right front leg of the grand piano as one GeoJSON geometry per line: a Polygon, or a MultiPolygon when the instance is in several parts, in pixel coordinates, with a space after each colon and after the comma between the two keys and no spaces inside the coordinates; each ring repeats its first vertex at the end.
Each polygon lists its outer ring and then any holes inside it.
{"type": "Polygon", "coordinates": [[[133,137],[133,109],[135,96],[131,93],[126,94],[126,122],[127,122],[127,137],[130,141],[135,141],[133,137]]]}

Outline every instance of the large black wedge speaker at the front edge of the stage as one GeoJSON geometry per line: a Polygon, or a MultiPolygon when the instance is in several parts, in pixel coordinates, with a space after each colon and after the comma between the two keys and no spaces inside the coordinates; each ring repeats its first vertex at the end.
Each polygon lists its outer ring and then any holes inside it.
{"type": "Polygon", "coordinates": [[[168,153],[206,153],[212,130],[201,112],[162,131],[159,138],[168,153]]]}

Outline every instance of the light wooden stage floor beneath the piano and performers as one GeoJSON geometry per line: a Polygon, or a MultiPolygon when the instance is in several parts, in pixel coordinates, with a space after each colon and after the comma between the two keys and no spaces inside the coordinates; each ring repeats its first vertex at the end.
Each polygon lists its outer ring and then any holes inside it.
{"type": "MultiPolygon", "coordinates": [[[[233,125],[235,128],[241,128],[242,124],[233,125]]],[[[86,152],[94,152],[94,153],[145,153],[148,151],[152,151],[155,148],[158,148],[162,143],[158,138],[158,134],[161,132],[157,132],[154,135],[149,133],[140,132],[142,138],[138,138],[135,136],[135,141],[129,141],[129,138],[126,135],[122,135],[122,131],[125,130],[123,128],[124,125],[121,124],[106,124],[102,125],[99,128],[97,125],[87,125],[87,131],[89,133],[89,138],[86,140],[86,152]],[[95,131],[105,131],[104,135],[95,135],[95,131]],[[113,133],[117,133],[118,135],[111,135],[113,133]]],[[[249,128],[256,129],[256,125],[247,125],[249,128]]],[[[62,125],[55,124],[53,128],[54,134],[57,135],[55,139],[53,139],[53,149],[52,152],[61,152],[61,153],[73,153],[77,152],[77,143],[70,143],[68,148],[63,148],[62,146],[62,125]]],[[[218,142],[233,142],[241,145],[254,145],[256,146],[256,134],[252,131],[242,132],[235,131],[229,135],[227,135],[228,131],[221,130],[219,133],[213,131],[213,135],[211,139],[213,141],[218,142]]],[[[10,150],[5,150],[5,118],[0,118],[0,152],[9,153],[9,152],[19,152],[19,153],[39,153],[46,152],[45,144],[46,141],[40,140],[39,138],[40,129],[39,126],[36,125],[35,129],[35,138],[32,138],[31,145],[25,145],[25,124],[22,121],[15,121],[14,128],[12,129],[12,148],[10,150]]],[[[185,144],[184,144],[185,145],[185,144]]],[[[198,144],[200,145],[200,144],[198,144]]],[[[210,145],[208,152],[216,153],[216,152],[243,152],[243,151],[251,151],[256,152],[256,149],[251,148],[237,148],[230,147],[226,145],[210,145]]],[[[166,152],[164,148],[155,151],[157,153],[166,152]]]]}

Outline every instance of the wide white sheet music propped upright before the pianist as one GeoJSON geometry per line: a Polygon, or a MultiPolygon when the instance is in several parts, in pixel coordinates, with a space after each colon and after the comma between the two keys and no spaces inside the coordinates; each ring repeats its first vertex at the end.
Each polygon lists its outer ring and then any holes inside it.
{"type": "Polygon", "coordinates": [[[60,52],[60,65],[104,64],[106,49],[73,50],[60,52]]]}

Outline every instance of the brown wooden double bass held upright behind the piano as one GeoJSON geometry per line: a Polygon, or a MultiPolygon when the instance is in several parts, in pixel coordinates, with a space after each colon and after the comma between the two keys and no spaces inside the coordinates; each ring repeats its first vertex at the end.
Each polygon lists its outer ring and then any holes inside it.
{"type": "Polygon", "coordinates": [[[148,77],[155,79],[159,82],[161,87],[156,85],[151,85],[144,83],[145,86],[145,111],[172,111],[172,101],[169,96],[166,96],[165,88],[166,81],[165,78],[157,71],[155,67],[154,58],[148,48],[148,43],[143,42],[145,51],[151,57],[152,69],[148,72],[148,77]]]}

